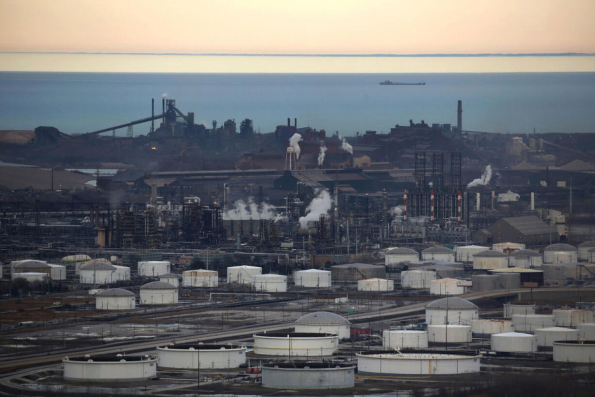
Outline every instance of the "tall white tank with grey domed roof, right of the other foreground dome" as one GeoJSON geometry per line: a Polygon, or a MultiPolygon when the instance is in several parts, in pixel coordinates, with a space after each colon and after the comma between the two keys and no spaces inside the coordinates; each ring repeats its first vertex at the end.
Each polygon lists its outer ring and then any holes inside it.
{"type": "Polygon", "coordinates": [[[425,306],[427,324],[446,324],[448,320],[448,324],[471,325],[475,318],[479,318],[478,307],[466,299],[442,298],[425,306]]]}

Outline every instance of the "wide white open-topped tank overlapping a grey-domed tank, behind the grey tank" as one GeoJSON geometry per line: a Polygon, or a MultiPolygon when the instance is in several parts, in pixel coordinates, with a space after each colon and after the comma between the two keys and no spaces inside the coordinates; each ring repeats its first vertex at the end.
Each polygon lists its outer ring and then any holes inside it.
{"type": "Polygon", "coordinates": [[[339,335],[311,332],[254,334],[254,353],[265,356],[330,356],[339,349],[339,335]]]}

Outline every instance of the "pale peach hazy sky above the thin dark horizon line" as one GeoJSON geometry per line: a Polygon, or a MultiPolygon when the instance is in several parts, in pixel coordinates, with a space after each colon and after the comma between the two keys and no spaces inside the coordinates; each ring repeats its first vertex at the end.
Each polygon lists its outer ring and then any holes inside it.
{"type": "Polygon", "coordinates": [[[0,0],[0,51],[595,52],[595,0],[0,0]]]}

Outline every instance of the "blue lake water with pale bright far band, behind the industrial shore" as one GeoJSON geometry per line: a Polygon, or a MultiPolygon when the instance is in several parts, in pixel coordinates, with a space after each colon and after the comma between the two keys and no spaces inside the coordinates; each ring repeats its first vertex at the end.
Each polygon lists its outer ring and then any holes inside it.
{"type": "MultiPolygon", "coordinates": [[[[292,123],[297,117],[298,127],[347,136],[387,132],[409,119],[456,125],[458,100],[468,131],[595,132],[592,56],[0,54],[0,61],[4,70],[60,71],[0,72],[0,129],[49,125],[67,134],[94,131],[150,116],[151,98],[159,114],[167,94],[208,128],[212,120],[222,125],[235,119],[239,127],[249,118],[263,133],[287,117],[292,123]],[[250,73],[227,73],[242,70],[250,73]],[[426,85],[378,84],[387,79],[426,85]]],[[[149,123],[134,126],[134,134],[149,128],[149,123]]]]}

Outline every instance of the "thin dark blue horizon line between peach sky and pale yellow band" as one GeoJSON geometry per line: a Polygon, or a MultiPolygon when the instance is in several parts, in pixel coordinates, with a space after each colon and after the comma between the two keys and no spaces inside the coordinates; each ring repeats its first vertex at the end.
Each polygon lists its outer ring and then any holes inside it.
{"type": "Polygon", "coordinates": [[[249,54],[217,52],[62,52],[62,51],[0,51],[0,54],[62,54],[62,55],[184,55],[217,57],[577,57],[595,56],[595,52],[485,52],[478,54],[249,54]]]}

